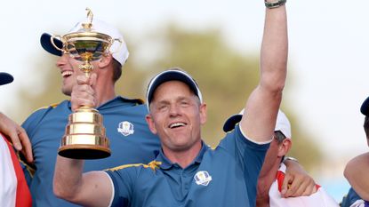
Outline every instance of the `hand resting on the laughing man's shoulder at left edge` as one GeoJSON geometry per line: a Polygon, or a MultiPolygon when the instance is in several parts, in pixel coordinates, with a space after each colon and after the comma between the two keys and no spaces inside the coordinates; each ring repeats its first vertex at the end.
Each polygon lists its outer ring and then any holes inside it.
{"type": "Polygon", "coordinates": [[[12,142],[17,151],[26,156],[28,163],[33,162],[32,146],[27,132],[3,113],[0,113],[0,132],[12,142]]]}

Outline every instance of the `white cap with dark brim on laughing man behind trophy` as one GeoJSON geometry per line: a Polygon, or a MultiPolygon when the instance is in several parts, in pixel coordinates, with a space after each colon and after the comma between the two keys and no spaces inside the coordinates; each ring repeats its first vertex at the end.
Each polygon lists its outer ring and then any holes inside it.
{"type": "MultiPolygon", "coordinates": [[[[68,34],[77,32],[78,30],[83,28],[82,24],[86,22],[89,22],[89,20],[85,19],[85,20],[79,21],[78,23],[76,23],[75,27],[69,30],[68,34]]],[[[128,59],[129,52],[127,49],[127,45],[124,42],[123,35],[119,32],[119,30],[102,20],[93,19],[92,20],[92,31],[108,35],[113,39],[119,39],[122,42],[120,43],[118,41],[114,41],[109,51],[112,53],[113,58],[123,66],[125,61],[128,59]]],[[[42,47],[44,48],[45,51],[50,52],[53,55],[61,56],[60,50],[57,50],[52,45],[51,37],[52,37],[52,34],[49,34],[49,33],[44,33],[41,36],[40,42],[41,42],[42,47]]],[[[63,47],[63,44],[59,38],[54,37],[53,42],[59,48],[63,47]]]]}

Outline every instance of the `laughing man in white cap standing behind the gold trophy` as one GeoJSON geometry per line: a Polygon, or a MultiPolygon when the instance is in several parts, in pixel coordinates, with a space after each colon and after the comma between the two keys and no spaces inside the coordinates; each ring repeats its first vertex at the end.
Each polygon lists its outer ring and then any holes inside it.
{"type": "MultiPolygon", "coordinates": [[[[81,28],[81,24],[85,22],[88,22],[88,20],[78,22],[68,33],[76,32],[81,28]]],[[[63,45],[60,39],[53,38],[53,44],[59,47],[60,51],[52,45],[51,35],[44,33],[41,36],[41,44],[44,50],[60,56],[56,66],[60,69],[62,78],[61,92],[70,96],[74,87],[82,87],[81,90],[87,92],[87,96],[93,96],[92,102],[87,103],[87,105],[96,107],[103,116],[103,124],[110,142],[111,155],[105,159],[86,162],[84,171],[103,170],[124,163],[148,163],[155,158],[159,151],[160,141],[156,135],[148,130],[145,121],[147,107],[143,105],[142,100],[127,99],[116,95],[115,92],[116,81],[120,78],[122,67],[129,55],[124,38],[116,28],[101,20],[92,20],[92,31],[111,36],[113,39],[119,39],[120,41],[112,44],[107,55],[104,55],[100,60],[91,62],[93,66],[90,79],[90,83],[93,83],[92,90],[76,84],[77,76],[84,75],[78,68],[82,62],[75,60],[68,54],[65,50],[66,45],[63,45]]],[[[88,100],[89,97],[80,98],[81,100],[88,100]]],[[[52,193],[52,175],[56,155],[60,147],[60,139],[64,135],[65,127],[68,124],[68,115],[72,112],[71,102],[64,100],[57,105],[36,110],[22,123],[22,128],[13,125],[8,129],[1,129],[4,134],[12,134],[13,143],[24,144],[28,138],[19,136],[23,134],[26,137],[28,134],[32,143],[35,160],[32,163],[32,154],[27,154],[28,171],[26,171],[26,177],[33,198],[33,206],[76,206],[57,198],[52,193]],[[27,133],[19,132],[24,131],[23,128],[27,133]],[[34,171],[34,174],[29,176],[29,171],[34,171]]],[[[0,126],[6,122],[10,123],[12,121],[4,115],[0,115],[0,126]]],[[[27,145],[23,148],[27,148],[27,145]]],[[[20,147],[17,149],[20,149],[20,147]]]]}

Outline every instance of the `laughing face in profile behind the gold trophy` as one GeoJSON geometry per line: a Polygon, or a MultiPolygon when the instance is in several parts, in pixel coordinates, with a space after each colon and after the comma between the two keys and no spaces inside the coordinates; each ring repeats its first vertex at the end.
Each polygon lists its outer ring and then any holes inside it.
{"type": "Polygon", "coordinates": [[[81,62],[71,58],[68,54],[63,54],[56,62],[56,66],[60,69],[62,80],[61,92],[70,96],[73,86],[76,84],[76,76],[82,75],[83,72],[78,68],[81,62]]]}

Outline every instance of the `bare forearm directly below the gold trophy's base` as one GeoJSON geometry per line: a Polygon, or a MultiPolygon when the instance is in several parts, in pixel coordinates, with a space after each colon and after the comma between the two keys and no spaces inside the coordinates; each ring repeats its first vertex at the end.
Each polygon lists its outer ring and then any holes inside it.
{"type": "Polygon", "coordinates": [[[62,199],[73,201],[81,186],[83,168],[83,160],[68,159],[58,155],[53,179],[54,194],[62,199]]]}

